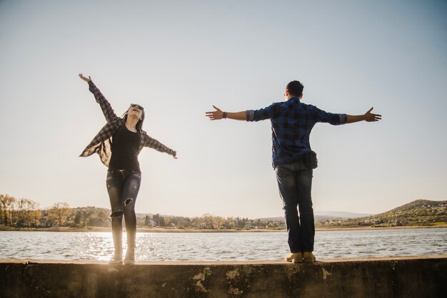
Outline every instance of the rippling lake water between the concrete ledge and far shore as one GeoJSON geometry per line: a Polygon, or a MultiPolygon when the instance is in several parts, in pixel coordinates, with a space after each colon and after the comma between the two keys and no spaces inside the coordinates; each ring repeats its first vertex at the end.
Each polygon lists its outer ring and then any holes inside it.
{"type": "MultiPolygon", "coordinates": [[[[124,234],[124,247],[126,235],[124,234]]],[[[283,260],[286,232],[137,233],[137,261],[283,260]]],[[[109,260],[110,232],[0,232],[0,259],[109,260]]],[[[447,254],[447,228],[317,231],[321,259],[447,254]]]]}

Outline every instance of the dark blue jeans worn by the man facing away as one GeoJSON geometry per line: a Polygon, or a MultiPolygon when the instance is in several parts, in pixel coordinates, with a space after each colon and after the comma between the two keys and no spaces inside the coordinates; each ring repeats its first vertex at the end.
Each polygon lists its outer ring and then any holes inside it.
{"type": "Polygon", "coordinates": [[[311,198],[313,170],[301,161],[277,165],[275,170],[283,200],[288,247],[291,252],[312,252],[315,237],[311,198]]]}

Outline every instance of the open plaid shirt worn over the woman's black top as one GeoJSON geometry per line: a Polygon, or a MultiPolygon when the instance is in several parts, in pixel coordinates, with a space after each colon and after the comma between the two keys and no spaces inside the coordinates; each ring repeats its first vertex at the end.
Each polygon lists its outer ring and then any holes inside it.
{"type": "MultiPolygon", "coordinates": [[[[96,134],[93,140],[91,140],[90,144],[84,149],[84,151],[82,151],[81,155],[79,156],[86,157],[97,153],[99,155],[99,158],[101,158],[101,162],[104,163],[106,167],[109,167],[111,158],[111,138],[116,130],[121,127],[121,125],[125,124],[125,120],[124,118],[120,118],[115,114],[114,109],[111,107],[109,101],[106,100],[101,91],[96,88],[95,84],[92,81],[89,81],[89,90],[91,93],[94,94],[96,102],[99,103],[99,106],[101,106],[102,113],[104,113],[107,123],[106,125],[104,125],[103,128],[101,128],[101,130],[99,130],[99,133],[96,134]]],[[[143,149],[143,147],[149,147],[173,156],[176,155],[176,151],[169,149],[158,140],[151,138],[149,135],[147,135],[146,131],[141,130],[140,135],[141,142],[138,150],[139,153],[141,152],[141,149],[143,149]]]]}

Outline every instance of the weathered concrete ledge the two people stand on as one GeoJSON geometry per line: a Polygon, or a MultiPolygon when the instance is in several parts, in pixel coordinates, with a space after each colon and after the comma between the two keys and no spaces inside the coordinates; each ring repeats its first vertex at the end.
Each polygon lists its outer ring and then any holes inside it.
{"type": "Polygon", "coordinates": [[[0,297],[446,297],[447,255],[256,262],[0,260],[0,297]]]}

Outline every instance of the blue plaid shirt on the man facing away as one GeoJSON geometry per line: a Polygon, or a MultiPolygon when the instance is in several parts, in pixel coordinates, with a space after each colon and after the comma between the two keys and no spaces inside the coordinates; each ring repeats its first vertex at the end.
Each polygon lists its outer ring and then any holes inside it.
{"type": "Polygon", "coordinates": [[[301,103],[296,97],[246,113],[247,121],[271,120],[273,168],[293,163],[311,150],[309,136],[316,123],[346,123],[346,114],[327,113],[316,106],[301,103]]]}

